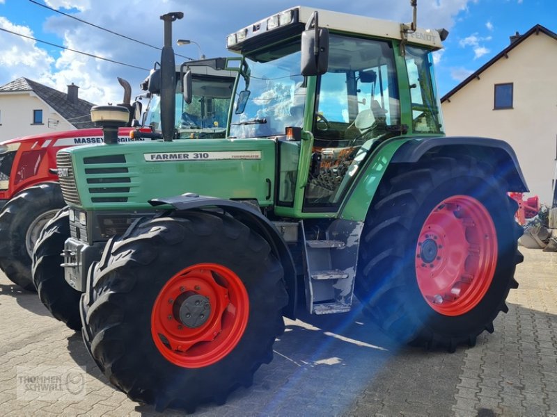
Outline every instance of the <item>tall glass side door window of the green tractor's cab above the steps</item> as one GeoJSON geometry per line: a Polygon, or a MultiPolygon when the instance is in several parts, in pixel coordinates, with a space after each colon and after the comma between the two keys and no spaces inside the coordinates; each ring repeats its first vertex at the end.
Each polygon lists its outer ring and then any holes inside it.
{"type": "Polygon", "coordinates": [[[331,35],[320,76],[305,211],[331,211],[379,141],[395,136],[400,100],[389,42],[331,35]]]}

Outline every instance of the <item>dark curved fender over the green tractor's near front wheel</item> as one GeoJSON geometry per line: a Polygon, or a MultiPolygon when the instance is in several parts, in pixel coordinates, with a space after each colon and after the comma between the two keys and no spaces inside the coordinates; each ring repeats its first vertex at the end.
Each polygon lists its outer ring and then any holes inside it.
{"type": "Polygon", "coordinates": [[[281,234],[278,233],[274,224],[255,207],[233,200],[206,197],[193,193],[186,193],[185,195],[178,195],[176,197],[152,199],[149,202],[152,206],[169,204],[177,211],[218,207],[232,215],[233,218],[239,222],[244,223],[251,230],[256,231],[262,238],[267,240],[273,254],[283,265],[285,286],[286,291],[288,291],[288,305],[285,306],[283,315],[288,318],[295,318],[297,275],[292,255],[290,254],[290,250],[288,250],[288,245],[285,243],[281,234]]]}

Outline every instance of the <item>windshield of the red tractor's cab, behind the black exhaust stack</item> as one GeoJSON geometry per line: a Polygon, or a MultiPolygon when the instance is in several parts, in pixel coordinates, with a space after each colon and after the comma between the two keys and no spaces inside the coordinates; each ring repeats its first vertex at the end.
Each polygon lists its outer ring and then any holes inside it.
{"type": "MultiPolygon", "coordinates": [[[[180,133],[180,138],[224,138],[233,85],[232,77],[194,74],[191,80],[191,104],[187,104],[178,84],[175,93],[175,129],[180,133]]],[[[145,124],[153,126],[155,130],[160,129],[159,96],[152,97],[145,124]]]]}

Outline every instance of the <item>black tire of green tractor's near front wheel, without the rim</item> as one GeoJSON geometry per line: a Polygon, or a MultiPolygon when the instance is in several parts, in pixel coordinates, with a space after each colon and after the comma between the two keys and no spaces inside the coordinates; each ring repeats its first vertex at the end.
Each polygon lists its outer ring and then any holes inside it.
{"type": "MultiPolygon", "coordinates": [[[[186,212],[143,220],[109,242],[96,265],[92,294],[81,297],[84,341],[110,382],[137,402],[195,411],[198,404],[226,402],[237,386],[272,360],[288,302],[281,263],[269,244],[226,215],[186,212]],[[151,335],[151,314],[166,282],[191,265],[212,263],[240,277],[249,316],[240,341],[208,366],[171,363],[151,335]]],[[[91,292],[91,291],[89,291],[91,292]]],[[[170,302],[170,301],[169,301],[170,302]]]]}

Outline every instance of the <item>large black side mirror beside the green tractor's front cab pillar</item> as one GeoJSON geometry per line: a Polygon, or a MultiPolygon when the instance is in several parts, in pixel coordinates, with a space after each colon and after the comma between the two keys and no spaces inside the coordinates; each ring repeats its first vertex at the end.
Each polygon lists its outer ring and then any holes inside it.
{"type": "Polygon", "coordinates": [[[317,12],[301,33],[300,71],[303,76],[320,75],[329,67],[329,29],[321,29],[317,24],[317,12]],[[313,26],[313,28],[312,28],[313,26]]]}

